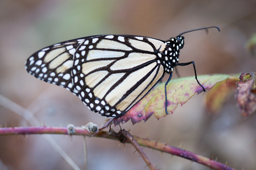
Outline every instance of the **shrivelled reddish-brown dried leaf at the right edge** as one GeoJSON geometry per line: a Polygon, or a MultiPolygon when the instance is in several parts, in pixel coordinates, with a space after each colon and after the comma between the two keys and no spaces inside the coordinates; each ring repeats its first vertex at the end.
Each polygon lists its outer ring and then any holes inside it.
{"type": "Polygon", "coordinates": [[[256,110],[256,73],[242,73],[237,83],[237,107],[242,116],[248,117],[256,110]]]}

